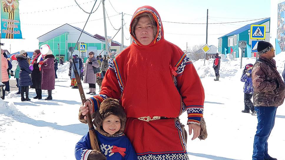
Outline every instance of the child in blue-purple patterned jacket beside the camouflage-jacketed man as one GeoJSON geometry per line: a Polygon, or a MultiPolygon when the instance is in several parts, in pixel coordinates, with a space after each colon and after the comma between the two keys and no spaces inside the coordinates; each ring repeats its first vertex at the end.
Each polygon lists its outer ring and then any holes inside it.
{"type": "Polygon", "coordinates": [[[244,92],[244,110],[241,112],[243,113],[250,113],[249,110],[251,110],[251,115],[255,115],[256,111],[254,110],[253,103],[251,101],[251,98],[253,96],[253,86],[252,86],[252,72],[253,64],[247,64],[245,68],[243,69],[243,74],[241,76],[241,81],[245,82],[243,86],[243,92],[244,92]]]}

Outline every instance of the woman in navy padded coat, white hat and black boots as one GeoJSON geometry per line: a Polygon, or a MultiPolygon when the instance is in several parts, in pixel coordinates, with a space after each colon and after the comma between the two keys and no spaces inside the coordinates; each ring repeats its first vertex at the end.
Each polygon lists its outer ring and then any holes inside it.
{"type": "Polygon", "coordinates": [[[19,63],[19,86],[21,86],[21,101],[30,101],[29,99],[29,86],[33,84],[30,74],[32,70],[29,69],[27,52],[24,50],[20,51],[19,55],[16,55],[19,63]],[[24,92],[26,92],[26,98],[24,98],[24,92]]]}

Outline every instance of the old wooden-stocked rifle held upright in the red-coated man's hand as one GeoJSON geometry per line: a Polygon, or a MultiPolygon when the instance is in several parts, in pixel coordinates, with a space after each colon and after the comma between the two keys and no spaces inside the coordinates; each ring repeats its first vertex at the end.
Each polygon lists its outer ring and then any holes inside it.
{"type": "MultiPolygon", "coordinates": [[[[75,75],[77,86],[78,86],[78,89],[79,89],[81,101],[82,101],[82,104],[84,104],[86,102],[86,98],[85,98],[85,94],[84,94],[84,91],[83,91],[83,87],[82,87],[82,84],[81,84],[80,76],[79,76],[79,73],[77,71],[77,67],[76,67],[74,58],[72,58],[72,63],[73,63],[74,75],[75,75]]],[[[92,119],[91,119],[89,111],[87,112],[86,117],[87,117],[87,123],[88,123],[88,126],[89,126],[89,136],[90,136],[91,149],[100,151],[99,144],[98,144],[98,139],[97,139],[97,136],[96,136],[96,133],[95,133],[95,129],[94,129],[94,126],[93,126],[92,119]]]]}

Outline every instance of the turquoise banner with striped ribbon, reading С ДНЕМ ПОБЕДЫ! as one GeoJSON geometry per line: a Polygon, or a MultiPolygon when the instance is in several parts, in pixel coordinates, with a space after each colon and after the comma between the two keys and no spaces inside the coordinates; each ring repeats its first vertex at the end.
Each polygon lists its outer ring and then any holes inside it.
{"type": "Polygon", "coordinates": [[[1,0],[1,38],[22,39],[18,0],[1,0]]]}

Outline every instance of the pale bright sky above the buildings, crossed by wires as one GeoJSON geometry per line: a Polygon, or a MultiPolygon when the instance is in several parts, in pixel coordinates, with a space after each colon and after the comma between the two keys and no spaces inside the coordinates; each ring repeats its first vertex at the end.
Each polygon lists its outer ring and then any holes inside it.
{"type": "MultiPolygon", "coordinates": [[[[80,6],[86,11],[91,11],[94,1],[92,0],[77,0],[80,6]]],[[[37,48],[37,37],[61,26],[60,24],[69,23],[73,26],[83,28],[84,23],[76,23],[85,21],[88,14],[85,14],[79,7],[74,5],[73,0],[39,0],[34,1],[22,0],[20,2],[20,19],[21,30],[24,40],[9,40],[2,39],[1,42],[6,46],[11,44],[11,52],[14,53],[21,49],[33,51],[37,48]],[[64,9],[56,9],[57,7],[70,6],[64,9]],[[55,9],[49,11],[49,9],[55,9]],[[45,11],[47,10],[47,11],[45,11]],[[34,11],[42,11],[36,12],[34,11]],[[27,13],[28,12],[28,13],[27,13]],[[32,13],[29,13],[32,12],[32,13]],[[44,25],[43,25],[44,24],[44,25]],[[48,25],[47,25],[48,24],[48,25]],[[57,25],[55,25],[57,24],[57,25]]],[[[97,1],[99,4],[100,0],[97,1]]],[[[96,4],[96,8],[97,8],[96,4]]],[[[160,14],[163,21],[186,22],[186,23],[206,23],[206,12],[209,9],[209,23],[245,21],[251,19],[259,19],[270,16],[269,0],[266,1],[192,1],[192,0],[105,0],[106,11],[109,16],[118,14],[117,12],[133,14],[134,11],[144,5],[153,6],[160,14]],[[113,7],[114,9],[113,9],[113,7]],[[221,18],[216,18],[221,17],[221,18]]],[[[129,38],[128,28],[131,16],[124,15],[126,27],[124,34],[129,38]]],[[[100,19],[103,17],[102,4],[98,10],[90,16],[90,20],[100,19]]],[[[121,15],[110,17],[110,21],[115,29],[121,26],[121,15]]],[[[258,21],[258,20],[256,20],[258,21]]],[[[209,24],[208,26],[208,44],[218,45],[218,37],[223,36],[231,31],[234,31],[246,24],[255,21],[233,23],[233,24],[209,24]]],[[[173,24],[163,22],[165,39],[178,45],[181,49],[206,43],[206,24],[173,24]],[[185,35],[188,34],[188,35],[185,35]]],[[[107,19],[107,34],[114,36],[116,30],[113,29],[107,19]]],[[[90,21],[87,23],[85,31],[90,34],[100,34],[105,36],[103,20],[90,21]]],[[[121,32],[114,38],[115,41],[121,42],[121,32]]],[[[125,45],[130,44],[130,40],[124,40],[125,45]]]]}

